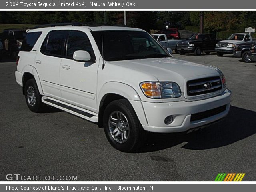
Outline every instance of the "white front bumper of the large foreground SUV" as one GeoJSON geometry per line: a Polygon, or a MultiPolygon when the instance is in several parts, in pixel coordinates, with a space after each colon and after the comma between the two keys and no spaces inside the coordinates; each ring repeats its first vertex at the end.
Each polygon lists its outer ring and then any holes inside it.
{"type": "Polygon", "coordinates": [[[204,126],[227,116],[230,109],[231,92],[226,89],[222,94],[213,98],[198,101],[180,101],[167,103],[142,102],[148,124],[142,124],[144,130],[150,132],[170,133],[186,132],[192,128],[204,126]],[[216,115],[190,121],[191,114],[205,112],[226,105],[226,110],[216,115]],[[171,124],[164,124],[164,119],[172,115],[171,124]]]}

